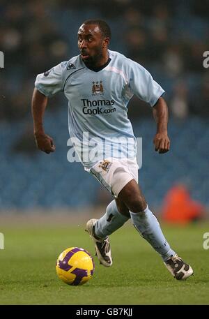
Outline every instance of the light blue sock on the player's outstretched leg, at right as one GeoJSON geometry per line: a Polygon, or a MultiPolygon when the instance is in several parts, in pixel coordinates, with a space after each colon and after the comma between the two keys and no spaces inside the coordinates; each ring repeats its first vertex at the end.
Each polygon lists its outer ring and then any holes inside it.
{"type": "Polygon", "coordinates": [[[132,213],[130,212],[132,223],[146,241],[153,246],[157,253],[160,253],[162,259],[166,261],[175,255],[175,251],[171,249],[167,240],[165,239],[160,224],[153,213],[148,209],[144,209],[144,212],[132,213]],[[141,214],[142,213],[142,214],[141,214]]]}

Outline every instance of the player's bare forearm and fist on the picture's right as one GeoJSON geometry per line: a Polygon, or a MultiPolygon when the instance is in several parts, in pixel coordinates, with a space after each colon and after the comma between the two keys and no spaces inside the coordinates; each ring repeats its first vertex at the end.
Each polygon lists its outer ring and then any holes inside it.
{"type": "Polygon", "coordinates": [[[170,140],[167,129],[169,112],[164,98],[160,97],[153,107],[153,117],[157,123],[157,133],[153,140],[155,151],[159,151],[160,154],[166,153],[170,149],[170,140]]]}

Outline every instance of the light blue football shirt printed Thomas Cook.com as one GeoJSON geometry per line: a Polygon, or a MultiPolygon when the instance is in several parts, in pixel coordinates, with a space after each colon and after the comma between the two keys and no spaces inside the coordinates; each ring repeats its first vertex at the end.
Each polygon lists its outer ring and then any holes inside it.
{"type": "Polygon", "coordinates": [[[63,91],[68,98],[70,138],[86,168],[104,158],[136,156],[127,104],[135,94],[153,106],[164,93],[137,62],[111,50],[109,58],[109,64],[95,72],[78,55],[39,74],[35,82],[45,96],[63,91]]]}

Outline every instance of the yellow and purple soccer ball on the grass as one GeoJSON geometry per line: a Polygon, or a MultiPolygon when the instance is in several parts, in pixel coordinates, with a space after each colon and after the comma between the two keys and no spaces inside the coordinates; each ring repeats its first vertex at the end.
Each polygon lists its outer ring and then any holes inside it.
{"type": "Polygon", "coordinates": [[[56,260],[56,274],[68,285],[83,285],[91,279],[93,272],[93,258],[83,248],[67,248],[56,260]]]}

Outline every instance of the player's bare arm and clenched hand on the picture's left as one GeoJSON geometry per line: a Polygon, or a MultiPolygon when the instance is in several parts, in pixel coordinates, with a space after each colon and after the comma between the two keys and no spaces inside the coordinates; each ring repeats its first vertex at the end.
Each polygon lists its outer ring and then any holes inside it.
{"type": "Polygon", "coordinates": [[[43,128],[43,117],[45,113],[45,108],[47,107],[48,98],[34,89],[32,97],[32,116],[33,116],[33,132],[36,139],[36,144],[38,149],[45,151],[49,154],[52,151],[55,151],[55,146],[52,138],[49,135],[45,134],[43,128]]]}

